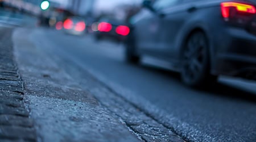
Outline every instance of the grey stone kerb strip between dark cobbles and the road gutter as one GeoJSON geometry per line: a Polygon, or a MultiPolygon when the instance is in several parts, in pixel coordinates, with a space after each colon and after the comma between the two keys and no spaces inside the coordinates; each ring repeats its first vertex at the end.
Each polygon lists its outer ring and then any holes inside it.
{"type": "Polygon", "coordinates": [[[13,40],[39,141],[139,141],[28,35],[14,32],[13,40]]]}

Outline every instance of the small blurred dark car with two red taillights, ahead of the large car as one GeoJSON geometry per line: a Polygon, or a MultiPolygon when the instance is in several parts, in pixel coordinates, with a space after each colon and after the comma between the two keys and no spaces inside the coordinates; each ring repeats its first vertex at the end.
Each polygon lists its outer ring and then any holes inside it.
{"type": "Polygon", "coordinates": [[[109,38],[117,41],[124,41],[130,33],[130,28],[125,23],[115,19],[103,18],[99,22],[94,23],[96,26],[96,39],[109,38]]]}

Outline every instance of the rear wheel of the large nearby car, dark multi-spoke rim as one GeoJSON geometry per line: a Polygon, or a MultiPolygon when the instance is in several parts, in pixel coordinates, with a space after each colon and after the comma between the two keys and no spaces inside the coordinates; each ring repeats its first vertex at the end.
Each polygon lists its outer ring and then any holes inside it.
{"type": "Polygon", "coordinates": [[[181,52],[181,80],[190,87],[204,88],[216,82],[210,75],[209,43],[201,31],[193,32],[181,52]]]}

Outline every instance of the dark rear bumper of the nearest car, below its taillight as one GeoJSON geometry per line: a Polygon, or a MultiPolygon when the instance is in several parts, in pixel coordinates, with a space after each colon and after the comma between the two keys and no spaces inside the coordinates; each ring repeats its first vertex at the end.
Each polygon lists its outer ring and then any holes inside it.
{"type": "Polygon", "coordinates": [[[229,28],[217,43],[215,73],[256,80],[256,36],[229,28]]]}

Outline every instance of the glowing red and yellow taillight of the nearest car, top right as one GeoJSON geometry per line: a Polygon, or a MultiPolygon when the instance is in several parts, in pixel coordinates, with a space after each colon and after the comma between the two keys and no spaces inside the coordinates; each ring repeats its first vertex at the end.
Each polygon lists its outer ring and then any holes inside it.
{"type": "Polygon", "coordinates": [[[246,5],[243,3],[237,3],[237,2],[222,2],[221,3],[221,14],[224,18],[229,18],[230,13],[230,7],[236,8],[237,11],[255,14],[256,10],[255,7],[252,5],[246,5]]]}

